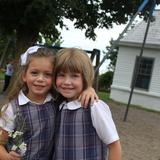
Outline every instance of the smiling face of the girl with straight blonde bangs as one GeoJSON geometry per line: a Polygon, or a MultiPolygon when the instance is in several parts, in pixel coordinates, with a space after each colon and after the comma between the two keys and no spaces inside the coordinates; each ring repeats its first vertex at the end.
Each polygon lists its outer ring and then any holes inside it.
{"type": "Polygon", "coordinates": [[[56,88],[69,101],[79,97],[83,90],[83,78],[80,73],[60,72],[56,77],[56,88]]]}

